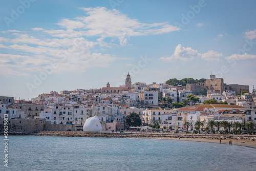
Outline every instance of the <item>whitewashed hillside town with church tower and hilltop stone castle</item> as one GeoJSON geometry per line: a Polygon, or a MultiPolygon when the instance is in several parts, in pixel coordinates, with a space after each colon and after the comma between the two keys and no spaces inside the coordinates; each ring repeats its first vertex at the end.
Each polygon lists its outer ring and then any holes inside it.
{"type": "Polygon", "coordinates": [[[29,101],[0,96],[0,124],[8,119],[13,133],[82,131],[87,118],[98,116],[102,131],[142,125],[182,132],[255,133],[255,92],[215,75],[146,84],[132,83],[128,73],[120,87],[108,82],[101,89],[51,91],[29,101]]]}

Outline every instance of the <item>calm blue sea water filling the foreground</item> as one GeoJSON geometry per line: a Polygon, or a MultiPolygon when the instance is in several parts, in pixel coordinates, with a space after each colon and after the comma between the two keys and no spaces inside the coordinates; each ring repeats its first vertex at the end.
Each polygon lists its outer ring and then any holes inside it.
{"type": "MultiPolygon", "coordinates": [[[[4,137],[0,136],[4,142],[4,137]]],[[[0,170],[255,170],[256,149],[133,138],[9,136],[0,170]]]]}

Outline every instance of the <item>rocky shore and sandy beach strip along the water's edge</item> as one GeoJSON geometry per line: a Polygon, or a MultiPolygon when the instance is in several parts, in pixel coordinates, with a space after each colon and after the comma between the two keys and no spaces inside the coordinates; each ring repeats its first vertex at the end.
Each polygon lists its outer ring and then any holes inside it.
{"type": "Polygon", "coordinates": [[[175,134],[143,134],[143,133],[84,133],[84,132],[40,132],[32,134],[32,136],[63,136],[63,137],[104,137],[104,138],[142,138],[142,139],[164,139],[176,141],[197,141],[240,145],[256,148],[256,136],[248,135],[175,135],[175,134]],[[180,140],[179,140],[180,137],[180,140]],[[238,139],[238,141],[237,141],[238,139]]]}

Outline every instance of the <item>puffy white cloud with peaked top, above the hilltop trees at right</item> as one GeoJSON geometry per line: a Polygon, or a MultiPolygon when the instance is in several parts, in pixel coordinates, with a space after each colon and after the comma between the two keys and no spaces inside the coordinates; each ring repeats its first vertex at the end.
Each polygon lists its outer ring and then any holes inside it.
{"type": "Polygon", "coordinates": [[[175,61],[176,59],[180,59],[182,61],[189,61],[194,58],[200,58],[204,60],[209,60],[209,61],[221,61],[219,57],[221,57],[222,54],[218,53],[216,51],[208,51],[206,53],[198,53],[197,50],[194,50],[190,47],[185,48],[182,47],[180,44],[175,48],[174,54],[172,56],[163,56],[160,57],[160,60],[163,61],[175,61]]]}

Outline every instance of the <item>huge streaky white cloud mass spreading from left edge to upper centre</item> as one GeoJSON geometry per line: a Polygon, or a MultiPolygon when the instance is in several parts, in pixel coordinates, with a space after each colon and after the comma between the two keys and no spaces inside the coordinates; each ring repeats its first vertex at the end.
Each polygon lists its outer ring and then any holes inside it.
{"type": "Polygon", "coordinates": [[[86,16],[59,20],[56,24],[61,28],[59,30],[31,29],[46,35],[31,36],[23,34],[23,31],[2,31],[9,33],[13,38],[0,37],[0,49],[10,52],[0,54],[0,67],[3,71],[0,74],[6,76],[8,71],[9,75],[27,75],[41,71],[42,67],[51,66],[52,63],[58,66],[54,68],[54,73],[83,72],[93,67],[108,67],[112,61],[129,58],[96,53],[95,46],[112,48],[118,46],[114,44],[116,40],[120,41],[121,46],[125,46],[131,36],[179,30],[167,23],[141,23],[137,19],[121,14],[118,10],[100,7],[81,9],[86,11],[86,16]],[[51,37],[50,35],[55,38],[44,38],[51,37]],[[86,36],[95,36],[96,40],[89,41],[84,38],[86,36]],[[110,42],[105,41],[107,37],[111,37],[110,42]]]}

